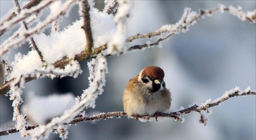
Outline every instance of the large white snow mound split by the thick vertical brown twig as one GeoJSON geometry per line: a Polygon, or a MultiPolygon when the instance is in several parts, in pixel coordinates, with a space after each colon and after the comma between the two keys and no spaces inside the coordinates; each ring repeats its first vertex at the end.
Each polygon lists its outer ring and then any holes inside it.
{"type": "MultiPolygon", "coordinates": [[[[116,27],[113,17],[99,12],[93,5],[90,5],[90,7],[91,31],[93,33],[94,48],[97,48],[111,39],[116,27]]],[[[81,28],[82,25],[83,19],[81,17],[80,20],[67,26],[62,32],[56,32],[50,36],[45,34],[33,35],[44,60],[47,63],[54,63],[64,56],[74,58],[76,54],[81,53],[86,44],[85,33],[81,28]]]]}

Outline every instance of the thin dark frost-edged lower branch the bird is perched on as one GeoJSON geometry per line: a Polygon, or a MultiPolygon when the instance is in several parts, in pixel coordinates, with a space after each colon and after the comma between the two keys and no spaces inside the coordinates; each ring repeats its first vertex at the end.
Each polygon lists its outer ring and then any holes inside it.
{"type": "MultiPolygon", "coordinates": [[[[172,117],[175,120],[181,121],[180,116],[184,115],[184,114],[188,114],[191,113],[193,111],[196,112],[200,112],[202,110],[205,110],[207,113],[209,113],[209,111],[207,110],[208,108],[214,107],[214,106],[218,106],[221,102],[224,102],[232,97],[235,96],[245,96],[245,95],[256,95],[256,92],[251,92],[250,90],[246,90],[245,92],[241,92],[239,90],[239,88],[235,88],[232,89],[230,91],[227,91],[226,93],[224,93],[220,98],[215,99],[213,102],[209,102],[208,100],[206,101],[206,103],[200,107],[198,107],[198,105],[193,105],[191,107],[185,108],[183,110],[180,111],[175,111],[172,113],[157,113],[157,117],[172,117]]],[[[201,113],[200,113],[201,114],[201,113]]],[[[116,111],[116,112],[108,112],[108,113],[100,113],[96,116],[91,116],[91,117],[81,117],[79,119],[74,119],[68,123],[63,123],[63,125],[71,125],[71,124],[75,124],[78,122],[82,122],[82,121],[87,121],[87,120],[100,120],[100,119],[107,119],[107,118],[113,118],[113,117],[117,117],[119,118],[120,116],[126,116],[126,113],[123,111],[116,111]]],[[[141,119],[146,119],[149,120],[149,118],[151,117],[155,117],[155,116],[139,116],[139,118],[141,119]]],[[[202,115],[200,120],[202,119],[202,115]]],[[[37,128],[37,126],[27,126],[26,130],[30,130],[30,129],[34,129],[37,128]]],[[[18,132],[17,129],[9,129],[6,131],[2,131],[0,132],[0,136],[3,135],[9,135],[12,133],[18,132]]]]}

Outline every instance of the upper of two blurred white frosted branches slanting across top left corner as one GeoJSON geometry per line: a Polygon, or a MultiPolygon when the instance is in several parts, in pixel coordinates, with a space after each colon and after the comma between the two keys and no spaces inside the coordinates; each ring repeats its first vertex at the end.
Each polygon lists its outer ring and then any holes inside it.
{"type": "Polygon", "coordinates": [[[50,5],[53,1],[50,0],[50,1],[44,1],[44,3],[42,5],[37,5],[35,6],[34,8],[32,9],[25,9],[22,14],[18,15],[15,14],[15,18],[11,18],[11,20],[9,21],[4,21],[0,27],[0,35],[2,35],[3,33],[6,32],[6,30],[8,30],[9,28],[11,28],[12,26],[14,26],[15,24],[17,24],[19,21],[22,21],[24,20],[25,18],[29,17],[30,15],[32,14],[35,14],[35,13],[38,13],[40,12],[42,9],[46,8],[48,5],[50,5]]]}

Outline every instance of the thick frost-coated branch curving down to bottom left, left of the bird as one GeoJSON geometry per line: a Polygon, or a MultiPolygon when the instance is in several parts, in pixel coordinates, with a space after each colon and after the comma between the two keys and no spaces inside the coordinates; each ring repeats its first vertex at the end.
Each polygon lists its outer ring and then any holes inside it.
{"type": "MultiPolygon", "coordinates": [[[[51,120],[50,123],[46,125],[39,125],[34,131],[31,131],[33,139],[38,139],[41,137],[47,137],[51,129],[57,129],[64,122],[71,121],[76,114],[80,113],[85,107],[95,107],[95,100],[98,95],[102,94],[103,86],[105,86],[105,74],[107,73],[107,60],[102,55],[97,56],[96,71],[94,81],[90,84],[87,90],[84,90],[84,98],[80,98],[78,102],[69,110],[66,110],[61,117],[56,117],[51,120]]],[[[66,135],[66,134],[65,134],[66,135]]]]}

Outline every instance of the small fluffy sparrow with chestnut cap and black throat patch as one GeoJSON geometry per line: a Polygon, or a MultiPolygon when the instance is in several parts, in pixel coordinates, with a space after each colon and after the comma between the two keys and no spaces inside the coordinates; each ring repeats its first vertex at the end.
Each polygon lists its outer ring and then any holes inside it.
{"type": "Polygon", "coordinates": [[[158,66],[147,66],[131,78],[123,91],[123,109],[128,117],[155,116],[171,107],[171,92],[165,87],[165,72],[158,66]]]}

